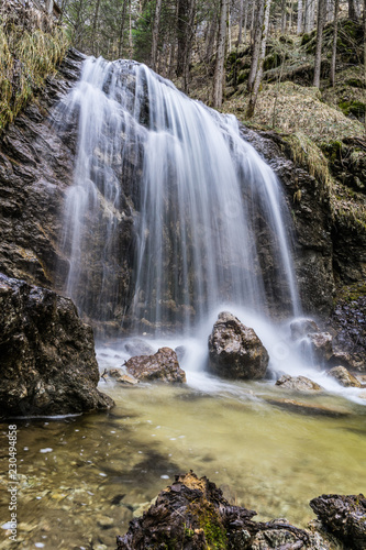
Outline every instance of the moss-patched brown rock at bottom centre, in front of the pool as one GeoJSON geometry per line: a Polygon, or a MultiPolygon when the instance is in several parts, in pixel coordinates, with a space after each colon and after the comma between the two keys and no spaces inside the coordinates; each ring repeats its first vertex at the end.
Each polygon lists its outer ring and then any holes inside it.
{"type": "Polygon", "coordinates": [[[207,477],[177,475],[143,517],[133,519],[118,550],[328,550],[318,532],[298,529],[286,519],[253,521],[256,512],[232,506],[207,477]]]}

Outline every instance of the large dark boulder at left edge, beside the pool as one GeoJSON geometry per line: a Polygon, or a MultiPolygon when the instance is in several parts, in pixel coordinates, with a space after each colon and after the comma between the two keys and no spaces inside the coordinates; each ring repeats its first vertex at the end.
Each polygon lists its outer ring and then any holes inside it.
{"type": "Polygon", "coordinates": [[[0,409],[5,416],[108,408],[92,330],[73,301],[0,274],[0,409]]]}

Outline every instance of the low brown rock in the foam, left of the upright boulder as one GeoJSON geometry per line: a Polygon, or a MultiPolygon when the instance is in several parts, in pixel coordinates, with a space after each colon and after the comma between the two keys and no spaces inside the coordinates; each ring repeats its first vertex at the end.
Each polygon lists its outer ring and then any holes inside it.
{"type": "Polygon", "coordinates": [[[170,348],[160,348],[155,355],[137,355],[125,363],[129,374],[138,381],[186,382],[186,373],[170,348]]]}

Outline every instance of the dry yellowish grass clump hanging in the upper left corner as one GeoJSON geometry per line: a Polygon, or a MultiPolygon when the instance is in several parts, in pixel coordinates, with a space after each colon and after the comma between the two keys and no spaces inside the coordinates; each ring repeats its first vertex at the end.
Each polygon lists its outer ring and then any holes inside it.
{"type": "Polygon", "coordinates": [[[31,8],[1,8],[0,133],[56,70],[67,47],[64,30],[46,14],[31,8]]]}

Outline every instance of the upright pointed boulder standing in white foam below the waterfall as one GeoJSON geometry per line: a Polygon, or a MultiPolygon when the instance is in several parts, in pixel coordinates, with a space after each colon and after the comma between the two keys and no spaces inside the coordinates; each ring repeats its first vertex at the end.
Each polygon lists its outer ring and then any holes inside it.
{"type": "Polygon", "coordinates": [[[228,311],[221,312],[213,326],[209,358],[214,374],[235,380],[263,378],[269,361],[254,330],[228,311]]]}

